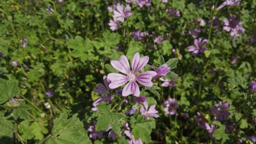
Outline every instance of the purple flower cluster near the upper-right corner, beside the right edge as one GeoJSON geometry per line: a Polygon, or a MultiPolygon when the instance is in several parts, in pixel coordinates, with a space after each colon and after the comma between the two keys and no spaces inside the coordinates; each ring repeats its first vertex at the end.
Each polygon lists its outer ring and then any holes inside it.
{"type": "Polygon", "coordinates": [[[236,19],[235,15],[229,17],[229,19],[223,19],[224,27],[223,29],[230,32],[233,39],[239,37],[241,33],[245,33],[245,28],[242,27],[242,22],[236,19]]]}

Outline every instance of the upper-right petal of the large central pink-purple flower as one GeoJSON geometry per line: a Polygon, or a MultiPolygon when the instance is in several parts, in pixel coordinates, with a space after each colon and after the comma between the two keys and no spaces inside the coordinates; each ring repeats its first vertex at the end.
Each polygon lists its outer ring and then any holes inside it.
{"type": "Polygon", "coordinates": [[[132,71],[133,74],[136,74],[139,70],[141,70],[148,63],[149,57],[139,57],[139,53],[136,52],[132,58],[132,71]]]}

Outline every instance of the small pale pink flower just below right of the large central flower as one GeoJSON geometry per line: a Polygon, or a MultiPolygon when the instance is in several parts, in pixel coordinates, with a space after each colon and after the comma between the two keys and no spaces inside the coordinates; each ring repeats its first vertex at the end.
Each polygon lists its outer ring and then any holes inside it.
{"type": "Polygon", "coordinates": [[[141,115],[144,115],[146,119],[149,119],[149,117],[155,117],[155,118],[159,117],[159,115],[156,114],[158,113],[158,111],[155,110],[155,105],[150,106],[148,109],[148,102],[144,101],[143,104],[145,106],[145,109],[143,106],[141,107],[141,115]]]}

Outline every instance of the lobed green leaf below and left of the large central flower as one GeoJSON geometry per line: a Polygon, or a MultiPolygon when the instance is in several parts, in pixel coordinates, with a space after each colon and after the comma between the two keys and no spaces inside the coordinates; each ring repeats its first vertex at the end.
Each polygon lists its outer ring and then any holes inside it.
{"type": "Polygon", "coordinates": [[[101,103],[97,105],[98,108],[98,122],[96,124],[96,130],[107,130],[109,125],[111,125],[112,129],[115,131],[116,134],[119,134],[120,127],[120,119],[125,118],[123,113],[114,113],[110,110],[111,105],[106,105],[101,103]]]}

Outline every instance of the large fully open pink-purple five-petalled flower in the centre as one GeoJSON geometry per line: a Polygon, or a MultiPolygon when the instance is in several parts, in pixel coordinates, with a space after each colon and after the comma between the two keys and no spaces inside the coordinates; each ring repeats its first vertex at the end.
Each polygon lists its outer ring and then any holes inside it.
{"type": "Polygon", "coordinates": [[[127,81],[127,85],[124,87],[122,95],[125,97],[127,95],[133,94],[136,97],[139,96],[139,87],[136,83],[139,82],[141,85],[146,87],[152,87],[152,78],[156,75],[155,71],[145,71],[139,75],[136,75],[139,70],[141,70],[149,61],[149,57],[139,57],[139,53],[135,53],[132,58],[132,72],[130,70],[130,64],[126,56],[121,56],[119,61],[111,61],[111,65],[121,73],[126,74],[117,74],[110,73],[108,74],[108,79],[111,81],[109,87],[114,89],[124,85],[127,81]]]}

